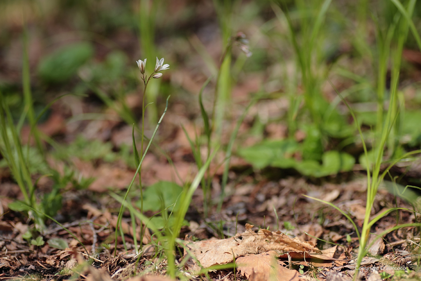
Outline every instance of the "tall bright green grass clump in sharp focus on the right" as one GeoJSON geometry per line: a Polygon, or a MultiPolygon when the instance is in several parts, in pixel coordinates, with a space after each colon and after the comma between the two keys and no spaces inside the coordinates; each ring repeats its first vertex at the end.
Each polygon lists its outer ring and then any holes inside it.
{"type": "MultiPolygon", "coordinates": [[[[384,177],[389,173],[389,169],[395,165],[397,162],[401,160],[408,160],[413,159],[414,155],[417,155],[421,153],[421,150],[414,150],[407,153],[402,154],[396,154],[393,153],[396,151],[396,146],[398,143],[396,142],[396,135],[398,131],[398,124],[396,124],[396,120],[398,119],[399,111],[401,107],[404,104],[403,97],[398,97],[398,82],[399,82],[399,69],[400,69],[400,58],[403,48],[403,43],[406,39],[408,30],[410,29],[412,31],[412,34],[414,35],[416,42],[418,43],[418,46],[421,49],[421,41],[419,40],[419,36],[414,30],[413,23],[410,19],[410,15],[412,15],[413,9],[414,9],[414,1],[409,1],[407,4],[407,8],[403,8],[403,6],[395,1],[390,0],[397,8],[397,12],[395,14],[395,17],[393,18],[393,21],[391,25],[388,27],[388,30],[386,33],[384,33],[380,27],[379,24],[377,24],[377,51],[378,51],[378,75],[377,75],[377,124],[376,124],[376,133],[375,133],[375,140],[376,142],[373,143],[373,149],[372,153],[374,155],[373,159],[370,157],[370,152],[367,150],[367,146],[365,143],[365,139],[363,137],[363,133],[361,130],[361,125],[357,120],[356,115],[354,114],[352,108],[348,105],[348,103],[345,101],[345,99],[338,93],[339,97],[342,99],[342,101],[346,104],[348,107],[352,117],[354,118],[354,121],[357,125],[357,129],[359,132],[359,135],[361,137],[361,142],[364,150],[364,159],[365,159],[365,166],[366,166],[366,173],[367,173],[367,191],[366,191],[366,207],[365,207],[365,216],[364,221],[362,225],[361,232],[358,231],[358,228],[356,224],[353,222],[353,220],[342,210],[340,210],[338,207],[334,206],[333,204],[329,202],[325,202],[320,199],[312,198],[317,201],[324,202],[335,209],[342,212],[342,214],[351,221],[353,224],[356,235],[359,238],[359,248],[358,248],[358,256],[357,256],[357,262],[356,262],[356,268],[358,270],[361,261],[365,254],[367,253],[367,248],[370,245],[367,245],[368,243],[368,237],[370,234],[371,227],[382,217],[387,215],[388,213],[392,211],[397,210],[407,210],[406,208],[400,208],[398,206],[389,208],[385,211],[383,211],[381,214],[376,216],[375,218],[370,220],[371,210],[374,204],[374,199],[377,194],[378,188],[380,184],[383,182],[384,177]],[[395,38],[396,42],[394,45],[391,43],[392,38],[395,38]],[[391,47],[392,45],[392,47],[391,47]],[[392,79],[390,82],[390,92],[389,92],[389,107],[387,109],[387,112],[384,116],[384,93],[385,93],[385,81],[386,81],[386,72],[387,72],[387,66],[389,64],[389,60],[391,60],[392,65],[392,79]],[[388,163],[388,167],[382,172],[381,171],[381,165],[385,163],[384,157],[386,156],[386,153],[388,155],[388,159],[386,160],[386,163],[388,163]]],[[[324,2],[325,4],[327,1],[324,2]]],[[[304,75],[304,74],[303,74],[304,75]]],[[[303,81],[304,82],[304,81],[303,81]]],[[[333,87],[333,85],[332,85],[333,87]]],[[[408,227],[408,226],[420,226],[419,223],[407,223],[407,224],[400,224],[397,226],[394,226],[390,229],[384,230],[383,233],[381,233],[379,236],[377,236],[377,239],[381,237],[382,235],[393,231],[398,228],[402,227],[408,227]]],[[[374,243],[374,241],[373,241],[374,243]]],[[[358,274],[354,275],[354,280],[357,278],[358,274]]]]}

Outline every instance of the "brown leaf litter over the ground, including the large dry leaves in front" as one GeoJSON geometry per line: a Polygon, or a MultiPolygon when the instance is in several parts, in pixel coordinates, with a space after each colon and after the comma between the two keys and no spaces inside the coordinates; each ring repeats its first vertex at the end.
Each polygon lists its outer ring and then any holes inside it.
{"type": "MultiPolygon", "coordinates": [[[[182,4],[183,2],[177,3],[182,4]]],[[[210,10],[212,9],[206,8],[205,12],[210,10]]],[[[213,29],[215,28],[210,28],[210,30],[213,29]]],[[[207,32],[205,34],[208,36],[207,32]]],[[[37,36],[31,33],[31,38],[40,40],[37,36]]],[[[137,44],[135,37],[124,32],[117,39],[125,44],[131,43],[133,46],[137,44]]],[[[214,42],[214,40],[210,41],[214,42]]],[[[214,44],[215,46],[221,45],[215,42],[214,44]]],[[[219,47],[215,46],[210,51],[215,54],[215,57],[218,57],[219,47]]],[[[39,52],[42,49],[39,48],[39,52]]],[[[188,50],[188,48],[185,49],[188,50]]],[[[37,57],[42,55],[40,53],[37,57]]],[[[133,55],[130,54],[130,57],[133,55]]],[[[409,61],[419,64],[418,52],[410,53],[405,50],[404,56],[410,57],[409,61]]],[[[201,64],[199,58],[191,57],[195,64],[201,64]]],[[[19,62],[19,59],[14,59],[14,61],[19,62]]],[[[13,69],[18,68],[14,67],[13,69]]],[[[183,69],[180,66],[180,69],[172,74],[171,80],[192,95],[196,95],[202,82],[206,80],[203,75],[206,71],[197,70],[198,68],[191,70],[183,69]]],[[[264,78],[262,77],[265,75],[253,73],[245,81],[240,81],[238,85],[233,86],[233,95],[238,98],[240,103],[247,100],[248,94],[257,91],[263,84],[264,78]]],[[[135,95],[137,100],[128,101],[129,106],[139,107],[138,97],[135,95]]],[[[75,113],[83,113],[87,108],[94,109],[88,110],[89,112],[100,111],[95,102],[82,101],[73,97],[69,97],[68,101],[53,105],[53,113],[46,122],[39,126],[44,134],[50,137],[58,136],[64,138],[66,142],[70,142],[82,132],[89,140],[107,141],[110,139],[116,148],[120,148],[124,144],[130,145],[131,126],[123,124],[113,110],[111,113],[110,110],[106,112],[110,120],[83,120],[66,123],[64,120],[68,117],[77,116],[75,113]]],[[[262,136],[248,133],[251,129],[249,124],[252,124],[254,119],[266,120],[269,116],[273,119],[280,118],[287,111],[287,105],[288,101],[280,98],[262,101],[252,108],[250,116],[246,118],[245,124],[240,128],[240,133],[244,133],[239,136],[243,145],[251,146],[261,141],[262,136]]],[[[168,112],[168,116],[171,118],[164,119],[162,124],[165,128],[162,130],[162,139],[169,139],[167,143],[163,144],[163,147],[171,155],[174,166],[177,167],[177,172],[184,181],[194,175],[196,170],[194,170],[194,162],[191,160],[188,142],[186,142],[183,131],[179,129],[179,123],[182,122],[185,125],[190,136],[196,133],[196,122],[189,118],[197,113],[194,112],[197,110],[194,106],[196,105],[184,105],[183,100],[176,99],[172,108],[173,115],[171,116],[168,112]]],[[[237,111],[233,110],[233,115],[238,115],[237,111]]],[[[285,125],[269,122],[263,129],[268,138],[285,137],[285,125]]],[[[27,139],[28,133],[29,127],[24,126],[22,131],[24,141],[27,139]]],[[[225,132],[225,134],[227,133],[225,132]]],[[[303,131],[298,130],[295,136],[297,142],[304,138],[300,134],[303,134],[303,131]]],[[[223,139],[228,139],[228,137],[227,135],[222,136],[223,139]]],[[[30,142],[32,143],[33,140],[30,139],[30,142]]],[[[152,185],[159,180],[174,180],[183,185],[184,182],[179,181],[173,166],[168,163],[167,159],[158,155],[156,151],[147,155],[149,163],[145,162],[145,169],[142,171],[144,184],[152,185]]],[[[85,161],[72,158],[67,161],[80,172],[81,178],[96,177],[94,183],[87,190],[72,190],[65,193],[63,208],[56,217],[62,226],[66,227],[85,245],[87,252],[75,237],[55,223],[51,223],[42,234],[44,245],[34,245],[27,241],[24,238],[29,228],[27,221],[19,213],[11,212],[8,207],[9,203],[21,196],[19,187],[13,183],[7,170],[0,168],[0,279],[39,275],[42,276],[41,279],[63,280],[72,278],[71,270],[77,270],[80,273],[80,279],[89,281],[171,280],[164,276],[166,261],[160,260],[156,256],[156,250],[160,245],[157,245],[154,240],[154,233],[147,228],[142,241],[145,244],[144,252],[138,263],[136,262],[138,256],[134,254],[134,232],[127,213],[122,222],[123,237],[120,236],[118,240],[117,256],[112,254],[114,251],[112,238],[117,221],[115,210],[119,205],[109,198],[107,199],[103,193],[110,188],[113,188],[114,191],[126,188],[134,174],[133,168],[120,160],[109,163],[101,159],[85,161]],[[122,246],[122,238],[125,239],[127,248],[122,246]],[[144,275],[132,277],[138,273],[144,275]]],[[[187,235],[184,244],[184,257],[189,257],[190,254],[194,256],[185,263],[186,270],[197,272],[202,267],[212,267],[217,264],[228,265],[235,262],[237,271],[232,269],[209,271],[209,277],[213,280],[242,278],[249,280],[315,280],[314,277],[319,280],[333,281],[351,279],[352,271],[355,269],[355,249],[358,247],[352,225],[339,212],[303,198],[301,195],[314,196],[334,203],[349,213],[360,227],[365,212],[363,207],[365,193],[364,183],[358,179],[358,175],[356,180],[350,180],[346,178],[347,175],[338,174],[337,178],[327,178],[322,183],[316,184],[311,178],[290,176],[290,171],[263,171],[269,172],[267,177],[255,172],[251,175],[244,173],[244,176],[242,172],[250,171],[252,167],[236,156],[233,156],[231,164],[232,171],[226,190],[227,198],[224,201],[221,214],[201,218],[198,213],[202,213],[202,195],[197,192],[193,196],[192,210],[187,213],[186,217],[190,221],[190,225],[182,229],[183,234],[187,235]],[[343,183],[337,184],[338,181],[343,183]],[[215,227],[220,222],[222,223],[221,231],[215,227]],[[256,232],[248,223],[259,225],[262,228],[256,232]],[[281,228],[278,223],[281,223],[281,227],[284,223],[282,232],[266,229],[268,226],[271,229],[281,228]],[[236,233],[234,229],[237,228],[244,229],[244,231],[236,233]],[[232,237],[219,239],[224,235],[232,237]],[[201,241],[193,242],[193,239],[201,239],[201,241]],[[331,244],[324,241],[338,243],[341,246],[330,247],[331,244]],[[323,250],[319,250],[319,248],[323,250]],[[300,272],[301,266],[304,268],[303,273],[300,272]]],[[[221,169],[218,170],[218,168],[221,167],[212,168],[216,174],[215,194],[220,192],[218,184],[221,169]]],[[[399,172],[404,173],[404,169],[406,168],[401,168],[399,172]]],[[[419,165],[417,168],[411,169],[415,169],[414,175],[419,178],[421,170],[419,165]]],[[[64,173],[64,171],[62,172],[64,173]]],[[[46,188],[49,188],[48,185],[47,182],[46,188]]],[[[372,212],[373,216],[385,207],[390,207],[394,200],[396,198],[384,190],[379,190],[376,198],[377,203],[372,212]]],[[[147,215],[154,215],[154,213],[149,212],[147,215]]],[[[412,222],[417,219],[419,220],[411,212],[400,210],[396,212],[396,216],[390,214],[382,218],[374,225],[375,231],[373,232],[378,235],[398,222],[412,222]]],[[[137,226],[139,225],[141,223],[137,224],[137,226]]],[[[369,248],[369,254],[373,256],[365,257],[362,266],[380,268],[383,265],[391,265],[393,268],[393,266],[410,267],[413,264],[418,264],[419,256],[416,253],[419,251],[420,241],[413,235],[415,231],[414,228],[405,228],[377,239],[369,248]]],[[[139,230],[137,229],[136,232],[139,233],[139,230]]],[[[378,236],[373,234],[370,239],[376,237],[378,236]]],[[[136,238],[139,242],[140,237],[136,238]]],[[[176,260],[181,262],[183,257],[177,255],[176,260]]],[[[414,269],[416,266],[411,268],[414,269]]],[[[394,270],[387,267],[383,272],[394,274],[394,270]]],[[[191,279],[205,278],[203,275],[187,273],[185,275],[191,279]]],[[[363,274],[366,279],[372,281],[376,280],[376,276],[378,276],[378,274],[370,275],[370,272],[363,272],[363,274]]]]}

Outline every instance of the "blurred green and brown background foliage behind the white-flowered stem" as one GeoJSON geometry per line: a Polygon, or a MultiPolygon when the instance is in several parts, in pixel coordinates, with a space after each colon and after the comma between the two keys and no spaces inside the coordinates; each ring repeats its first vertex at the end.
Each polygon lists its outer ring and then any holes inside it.
{"type": "MultiPolygon", "coordinates": [[[[410,1],[399,3],[407,7],[410,1]]],[[[420,12],[417,3],[412,19],[418,30],[420,12]]],[[[258,96],[240,127],[234,154],[256,169],[336,175],[354,164],[370,164],[359,159],[356,125],[329,80],[355,111],[369,148],[374,148],[384,119],[379,112],[389,106],[396,53],[403,59],[397,68],[396,125],[384,148],[385,160],[421,145],[421,54],[407,31],[403,51],[396,50],[402,18],[392,1],[4,0],[0,91],[18,122],[25,108],[26,31],[36,114],[68,94],[40,118],[43,123],[59,111],[66,120],[64,129],[50,135],[47,150],[57,150],[58,159],[126,159],[133,167],[130,143],[113,141],[113,135],[124,123],[141,122],[137,97],[142,91],[134,62],[147,58],[151,72],[155,57],[164,57],[170,69],[153,81],[146,97],[153,102],[146,113],[151,129],[166,97],[172,96],[168,110],[173,117],[164,121],[168,125],[160,142],[170,142],[179,123],[187,120],[203,126],[198,93],[213,77],[203,92],[208,114],[218,100],[211,116],[217,132],[213,143],[228,144],[232,124],[258,96]],[[238,45],[227,47],[239,32],[249,40],[250,58],[238,45]],[[111,128],[86,122],[92,120],[108,120],[111,128]],[[52,142],[73,144],[60,148],[52,142]]],[[[204,142],[199,137],[199,144],[204,142]]]]}

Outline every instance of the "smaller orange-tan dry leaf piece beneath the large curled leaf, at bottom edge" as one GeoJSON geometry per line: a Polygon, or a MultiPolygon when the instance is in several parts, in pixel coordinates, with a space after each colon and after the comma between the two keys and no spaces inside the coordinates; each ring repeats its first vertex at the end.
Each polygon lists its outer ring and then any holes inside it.
{"type": "Polygon", "coordinates": [[[276,259],[277,255],[275,251],[269,251],[241,256],[236,259],[237,268],[249,281],[302,280],[296,270],[282,266],[280,263],[283,262],[276,259]]]}

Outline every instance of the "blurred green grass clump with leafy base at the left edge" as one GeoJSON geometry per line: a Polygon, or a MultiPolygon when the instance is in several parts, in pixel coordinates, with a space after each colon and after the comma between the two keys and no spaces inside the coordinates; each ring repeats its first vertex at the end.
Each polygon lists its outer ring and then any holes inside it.
{"type": "MultiPolygon", "coordinates": [[[[61,209],[61,191],[71,178],[63,178],[55,170],[51,169],[44,156],[44,149],[41,143],[41,134],[37,128],[37,122],[46,110],[59,98],[48,104],[44,110],[35,115],[33,98],[30,88],[29,57],[27,50],[26,32],[24,33],[24,56],[23,56],[23,88],[25,109],[21,113],[18,124],[15,124],[12,112],[0,92],[0,154],[3,156],[2,163],[6,163],[11,174],[17,182],[23,194],[23,201],[15,201],[9,204],[14,211],[26,212],[34,221],[35,229],[42,232],[45,229],[45,220],[49,216],[55,216],[61,209]],[[21,139],[21,130],[25,120],[30,123],[30,134],[28,144],[24,146],[21,139]],[[29,143],[34,137],[37,149],[31,148],[29,143]],[[41,176],[34,182],[33,176],[39,173],[41,176]],[[38,181],[42,177],[53,176],[52,191],[37,198],[36,188],[38,181]],[[64,185],[62,185],[64,184],[64,185]]],[[[62,97],[62,96],[61,96],[62,97]]],[[[47,137],[45,137],[47,138],[47,137]]],[[[50,141],[50,140],[49,140],[50,141]]],[[[36,238],[34,243],[41,243],[36,238]]],[[[31,241],[32,242],[32,241],[31,241]]]]}

